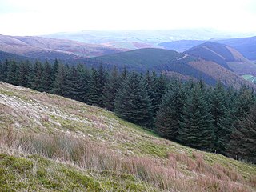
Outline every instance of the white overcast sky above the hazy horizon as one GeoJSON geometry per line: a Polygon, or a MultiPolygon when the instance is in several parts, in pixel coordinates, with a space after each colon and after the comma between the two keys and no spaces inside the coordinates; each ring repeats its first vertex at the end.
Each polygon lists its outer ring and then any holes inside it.
{"type": "Polygon", "coordinates": [[[214,28],[256,31],[256,0],[0,0],[0,34],[214,28]]]}

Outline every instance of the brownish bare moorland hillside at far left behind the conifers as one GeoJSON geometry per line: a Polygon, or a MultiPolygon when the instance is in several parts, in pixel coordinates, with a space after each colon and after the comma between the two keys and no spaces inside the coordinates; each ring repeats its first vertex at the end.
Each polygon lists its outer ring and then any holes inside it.
{"type": "Polygon", "coordinates": [[[63,39],[0,35],[0,50],[38,59],[88,58],[122,50],[63,39]]]}

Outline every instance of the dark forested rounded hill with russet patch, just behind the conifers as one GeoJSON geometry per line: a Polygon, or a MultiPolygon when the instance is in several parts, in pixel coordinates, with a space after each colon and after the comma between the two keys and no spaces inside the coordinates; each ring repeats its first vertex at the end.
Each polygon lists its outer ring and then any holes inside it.
{"type": "Polygon", "coordinates": [[[226,85],[236,87],[246,83],[237,74],[215,62],[206,62],[203,59],[173,50],[153,48],[130,50],[96,58],[78,59],[75,62],[95,67],[102,65],[106,68],[115,65],[120,70],[126,66],[128,70],[136,70],[142,73],[145,73],[146,70],[156,71],[157,73],[165,72],[183,79],[202,79],[208,85],[214,85],[218,80],[226,85]]]}

